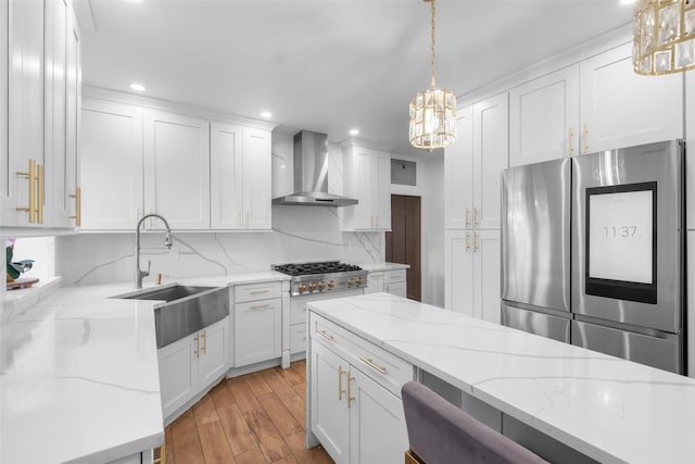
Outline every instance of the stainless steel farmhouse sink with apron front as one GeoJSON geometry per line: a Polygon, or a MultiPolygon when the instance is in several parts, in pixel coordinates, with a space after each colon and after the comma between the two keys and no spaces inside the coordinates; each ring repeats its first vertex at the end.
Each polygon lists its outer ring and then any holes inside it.
{"type": "Polygon", "coordinates": [[[166,347],[229,315],[227,287],[173,285],[112,298],[165,302],[154,309],[157,348],[166,347]]]}

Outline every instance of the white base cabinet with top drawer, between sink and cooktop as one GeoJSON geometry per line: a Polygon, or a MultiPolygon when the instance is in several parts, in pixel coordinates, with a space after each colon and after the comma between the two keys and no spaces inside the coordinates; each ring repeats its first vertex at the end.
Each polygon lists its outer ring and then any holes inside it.
{"type": "Polygon", "coordinates": [[[233,288],[235,367],[280,358],[282,352],[282,283],[233,288]]]}

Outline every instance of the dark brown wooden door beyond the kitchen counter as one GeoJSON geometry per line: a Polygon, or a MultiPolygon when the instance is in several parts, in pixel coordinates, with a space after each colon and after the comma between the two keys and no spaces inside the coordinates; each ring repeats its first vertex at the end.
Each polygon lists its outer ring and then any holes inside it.
{"type": "Polygon", "coordinates": [[[408,298],[421,300],[420,197],[391,196],[391,229],[387,233],[387,261],[409,264],[408,298]]]}

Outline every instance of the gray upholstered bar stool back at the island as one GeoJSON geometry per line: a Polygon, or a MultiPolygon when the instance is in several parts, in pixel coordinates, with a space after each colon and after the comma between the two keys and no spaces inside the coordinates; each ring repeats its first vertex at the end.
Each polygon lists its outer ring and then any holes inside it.
{"type": "Polygon", "coordinates": [[[547,463],[421,384],[409,381],[402,393],[410,444],[406,464],[547,463]]]}

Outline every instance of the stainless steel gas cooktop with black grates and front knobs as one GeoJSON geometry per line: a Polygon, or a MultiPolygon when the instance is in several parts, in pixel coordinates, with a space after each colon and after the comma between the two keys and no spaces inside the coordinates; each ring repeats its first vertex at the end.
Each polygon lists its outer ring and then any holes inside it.
{"type": "Polygon", "coordinates": [[[278,264],[273,269],[292,276],[290,294],[294,297],[367,286],[367,271],[340,261],[278,264]]]}

